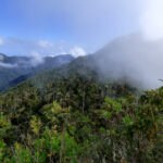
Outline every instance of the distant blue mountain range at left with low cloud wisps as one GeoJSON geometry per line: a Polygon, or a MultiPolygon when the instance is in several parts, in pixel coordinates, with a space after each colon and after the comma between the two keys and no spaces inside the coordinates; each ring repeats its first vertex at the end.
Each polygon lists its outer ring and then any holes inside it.
{"type": "Polygon", "coordinates": [[[42,71],[60,67],[73,61],[71,54],[46,57],[8,57],[0,53],[0,90],[14,86],[42,71]]]}

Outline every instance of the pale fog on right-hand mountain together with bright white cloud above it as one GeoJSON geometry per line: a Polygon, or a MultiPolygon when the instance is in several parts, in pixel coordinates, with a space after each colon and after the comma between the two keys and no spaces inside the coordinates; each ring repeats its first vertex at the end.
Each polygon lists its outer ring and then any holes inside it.
{"type": "Polygon", "coordinates": [[[139,32],[110,41],[96,52],[96,64],[106,78],[158,88],[163,85],[163,1],[139,4],[139,32]]]}

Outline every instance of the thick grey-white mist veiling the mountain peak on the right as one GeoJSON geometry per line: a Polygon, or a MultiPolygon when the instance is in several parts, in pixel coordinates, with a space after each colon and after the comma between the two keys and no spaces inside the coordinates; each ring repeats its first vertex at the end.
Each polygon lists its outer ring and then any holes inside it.
{"type": "Polygon", "coordinates": [[[115,80],[127,79],[145,89],[162,85],[163,40],[149,41],[141,34],[114,39],[93,54],[99,74],[115,80]]]}

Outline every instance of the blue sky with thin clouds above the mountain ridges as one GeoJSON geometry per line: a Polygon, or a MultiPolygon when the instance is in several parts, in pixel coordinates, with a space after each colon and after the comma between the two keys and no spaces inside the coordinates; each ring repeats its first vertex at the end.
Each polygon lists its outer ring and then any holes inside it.
{"type": "Polygon", "coordinates": [[[142,1],[0,0],[0,52],[42,55],[93,52],[139,30],[142,1]]]}

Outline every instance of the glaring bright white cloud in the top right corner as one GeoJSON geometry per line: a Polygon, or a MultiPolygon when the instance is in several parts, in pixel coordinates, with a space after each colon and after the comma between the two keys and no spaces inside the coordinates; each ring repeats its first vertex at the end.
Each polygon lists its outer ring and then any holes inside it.
{"type": "Polygon", "coordinates": [[[140,27],[146,39],[163,38],[163,0],[145,0],[140,27]]]}

